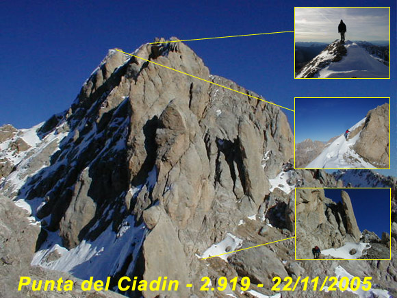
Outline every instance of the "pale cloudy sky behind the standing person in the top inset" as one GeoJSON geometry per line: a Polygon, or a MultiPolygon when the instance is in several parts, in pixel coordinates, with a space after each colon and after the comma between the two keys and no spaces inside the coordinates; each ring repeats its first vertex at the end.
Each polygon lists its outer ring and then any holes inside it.
{"type": "Polygon", "coordinates": [[[389,8],[295,8],[295,40],[336,40],[340,20],[346,40],[389,40],[389,8]]]}

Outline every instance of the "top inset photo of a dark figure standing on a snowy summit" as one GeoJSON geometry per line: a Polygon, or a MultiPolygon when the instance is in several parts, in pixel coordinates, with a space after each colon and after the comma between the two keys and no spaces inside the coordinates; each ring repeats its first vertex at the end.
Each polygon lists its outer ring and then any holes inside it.
{"type": "Polygon", "coordinates": [[[390,8],[295,8],[296,79],[389,79],[390,8]]]}

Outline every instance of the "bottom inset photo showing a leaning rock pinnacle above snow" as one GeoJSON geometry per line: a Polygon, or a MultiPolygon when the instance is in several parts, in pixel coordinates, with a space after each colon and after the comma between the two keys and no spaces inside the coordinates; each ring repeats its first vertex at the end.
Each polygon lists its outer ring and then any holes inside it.
{"type": "Polygon", "coordinates": [[[296,188],[295,259],[390,260],[390,203],[390,188],[296,188]]]}

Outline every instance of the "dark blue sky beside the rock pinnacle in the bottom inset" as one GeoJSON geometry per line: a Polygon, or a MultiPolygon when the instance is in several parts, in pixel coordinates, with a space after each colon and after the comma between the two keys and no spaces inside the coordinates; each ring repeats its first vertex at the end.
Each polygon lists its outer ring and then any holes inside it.
{"type": "MultiPolygon", "coordinates": [[[[342,188],[325,188],[325,197],[342,201],[342,188]]],[[[390,234],[390,190],[388,188],[343,188],[352,201],[357,225],[374,232],[379,238],[382,232],[390,234]]]]}

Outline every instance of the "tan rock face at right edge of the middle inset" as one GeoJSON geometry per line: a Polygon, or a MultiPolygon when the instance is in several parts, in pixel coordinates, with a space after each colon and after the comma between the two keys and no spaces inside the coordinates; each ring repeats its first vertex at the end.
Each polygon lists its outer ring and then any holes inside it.
{"type": "Polygon", "coordinates": [[[376,168],[389,167],[389,104],[385,103],[366,116],[354,149],[376,168]]]}

